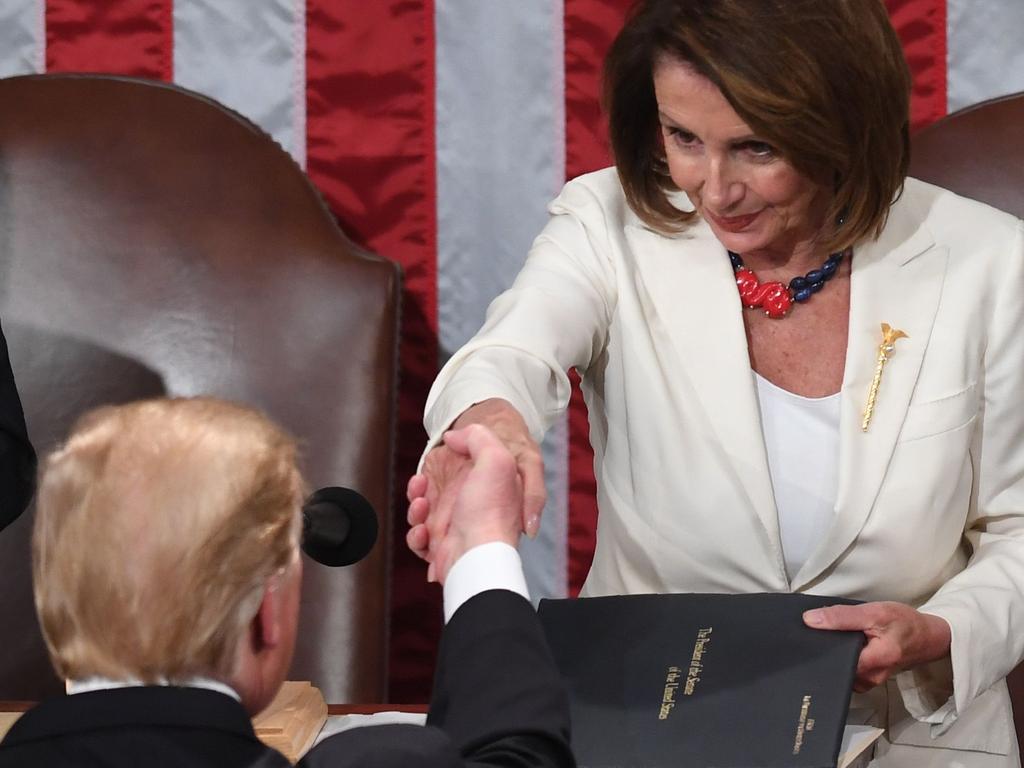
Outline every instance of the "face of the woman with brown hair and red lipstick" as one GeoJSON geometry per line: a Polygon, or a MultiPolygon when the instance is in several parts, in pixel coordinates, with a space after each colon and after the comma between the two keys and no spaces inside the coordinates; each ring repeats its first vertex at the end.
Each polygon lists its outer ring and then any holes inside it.
{"type": "Polygon", "coordinates": [[[690,65],[663,58],[654,94],[672,180],[728,250],[788,256],[813,248],[827,207],[824,186],[760,139],[690,65]]]}

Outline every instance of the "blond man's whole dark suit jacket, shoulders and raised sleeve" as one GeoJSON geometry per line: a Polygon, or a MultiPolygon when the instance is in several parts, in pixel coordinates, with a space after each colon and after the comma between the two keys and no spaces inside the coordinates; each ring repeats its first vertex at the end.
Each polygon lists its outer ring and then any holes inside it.
{"type": "MultiPolygon", "coordinates": [[[[332,736],[303,768],[573,766],[568,706],[529,603],[477,595],[441,638],[427,727],[382,725],[332,736]]],[[[14,766],[285,768],[234,699],[198,688],[119,688],[44,701],[0,742],[14,766]]]]}

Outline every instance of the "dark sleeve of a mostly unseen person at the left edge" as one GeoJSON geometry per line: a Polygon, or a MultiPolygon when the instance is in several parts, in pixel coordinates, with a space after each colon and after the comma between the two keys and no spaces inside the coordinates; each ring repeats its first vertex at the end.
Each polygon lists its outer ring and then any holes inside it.
{"type": "Polygon", "coordinates": [[[35,474],[36,454],[29,442],[7,341],[0,330],[0,530],[29,505],[35,474]]]}

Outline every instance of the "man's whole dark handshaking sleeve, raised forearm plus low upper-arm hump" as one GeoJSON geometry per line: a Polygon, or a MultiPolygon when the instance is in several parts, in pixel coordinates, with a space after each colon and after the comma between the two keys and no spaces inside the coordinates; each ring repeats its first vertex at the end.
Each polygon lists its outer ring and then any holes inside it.
{"type": "Polygon", "coordinates": [[[572,768],[568,702],[527,600],[470,598],[441,636],[426,727],[353,728],[300,768],[572,768]]]}

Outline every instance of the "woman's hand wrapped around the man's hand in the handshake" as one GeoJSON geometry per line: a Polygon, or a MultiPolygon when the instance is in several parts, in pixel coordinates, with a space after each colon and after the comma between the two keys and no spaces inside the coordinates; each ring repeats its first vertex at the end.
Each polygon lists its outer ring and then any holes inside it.
{"type": "MultiPolygon", "coordinates": [[[[452,424],[452,429],[460,429],[468,424],[483,424],[490,429],[515,458],[523,487],[523,531],[530,538],[536,537],[541,525],[541,512],[544,510],[547,492],[544,486],[544,461],[541,458],[541,447],[530,436],[526,422],[508,400],[493,397],[466,409],[452,424]]],[[[410,481],[407,492],[411,502],[409,524],[416,528],[417,534],[415,537],[410,537],[408,543],[413,552],[428,562],[430,537],[423,523],[426,521],[429,508],[445,484],[468,468],[469,460],[465,456],[456,454],[440,442],[427,454],[420,470],[421,474],[414,476],[410,481]],[[425,478],[426,482],[417,478],[425,478]],[[425,498],[427,504],[413,505],[412,502],[418,498],[425,498]]]]}

